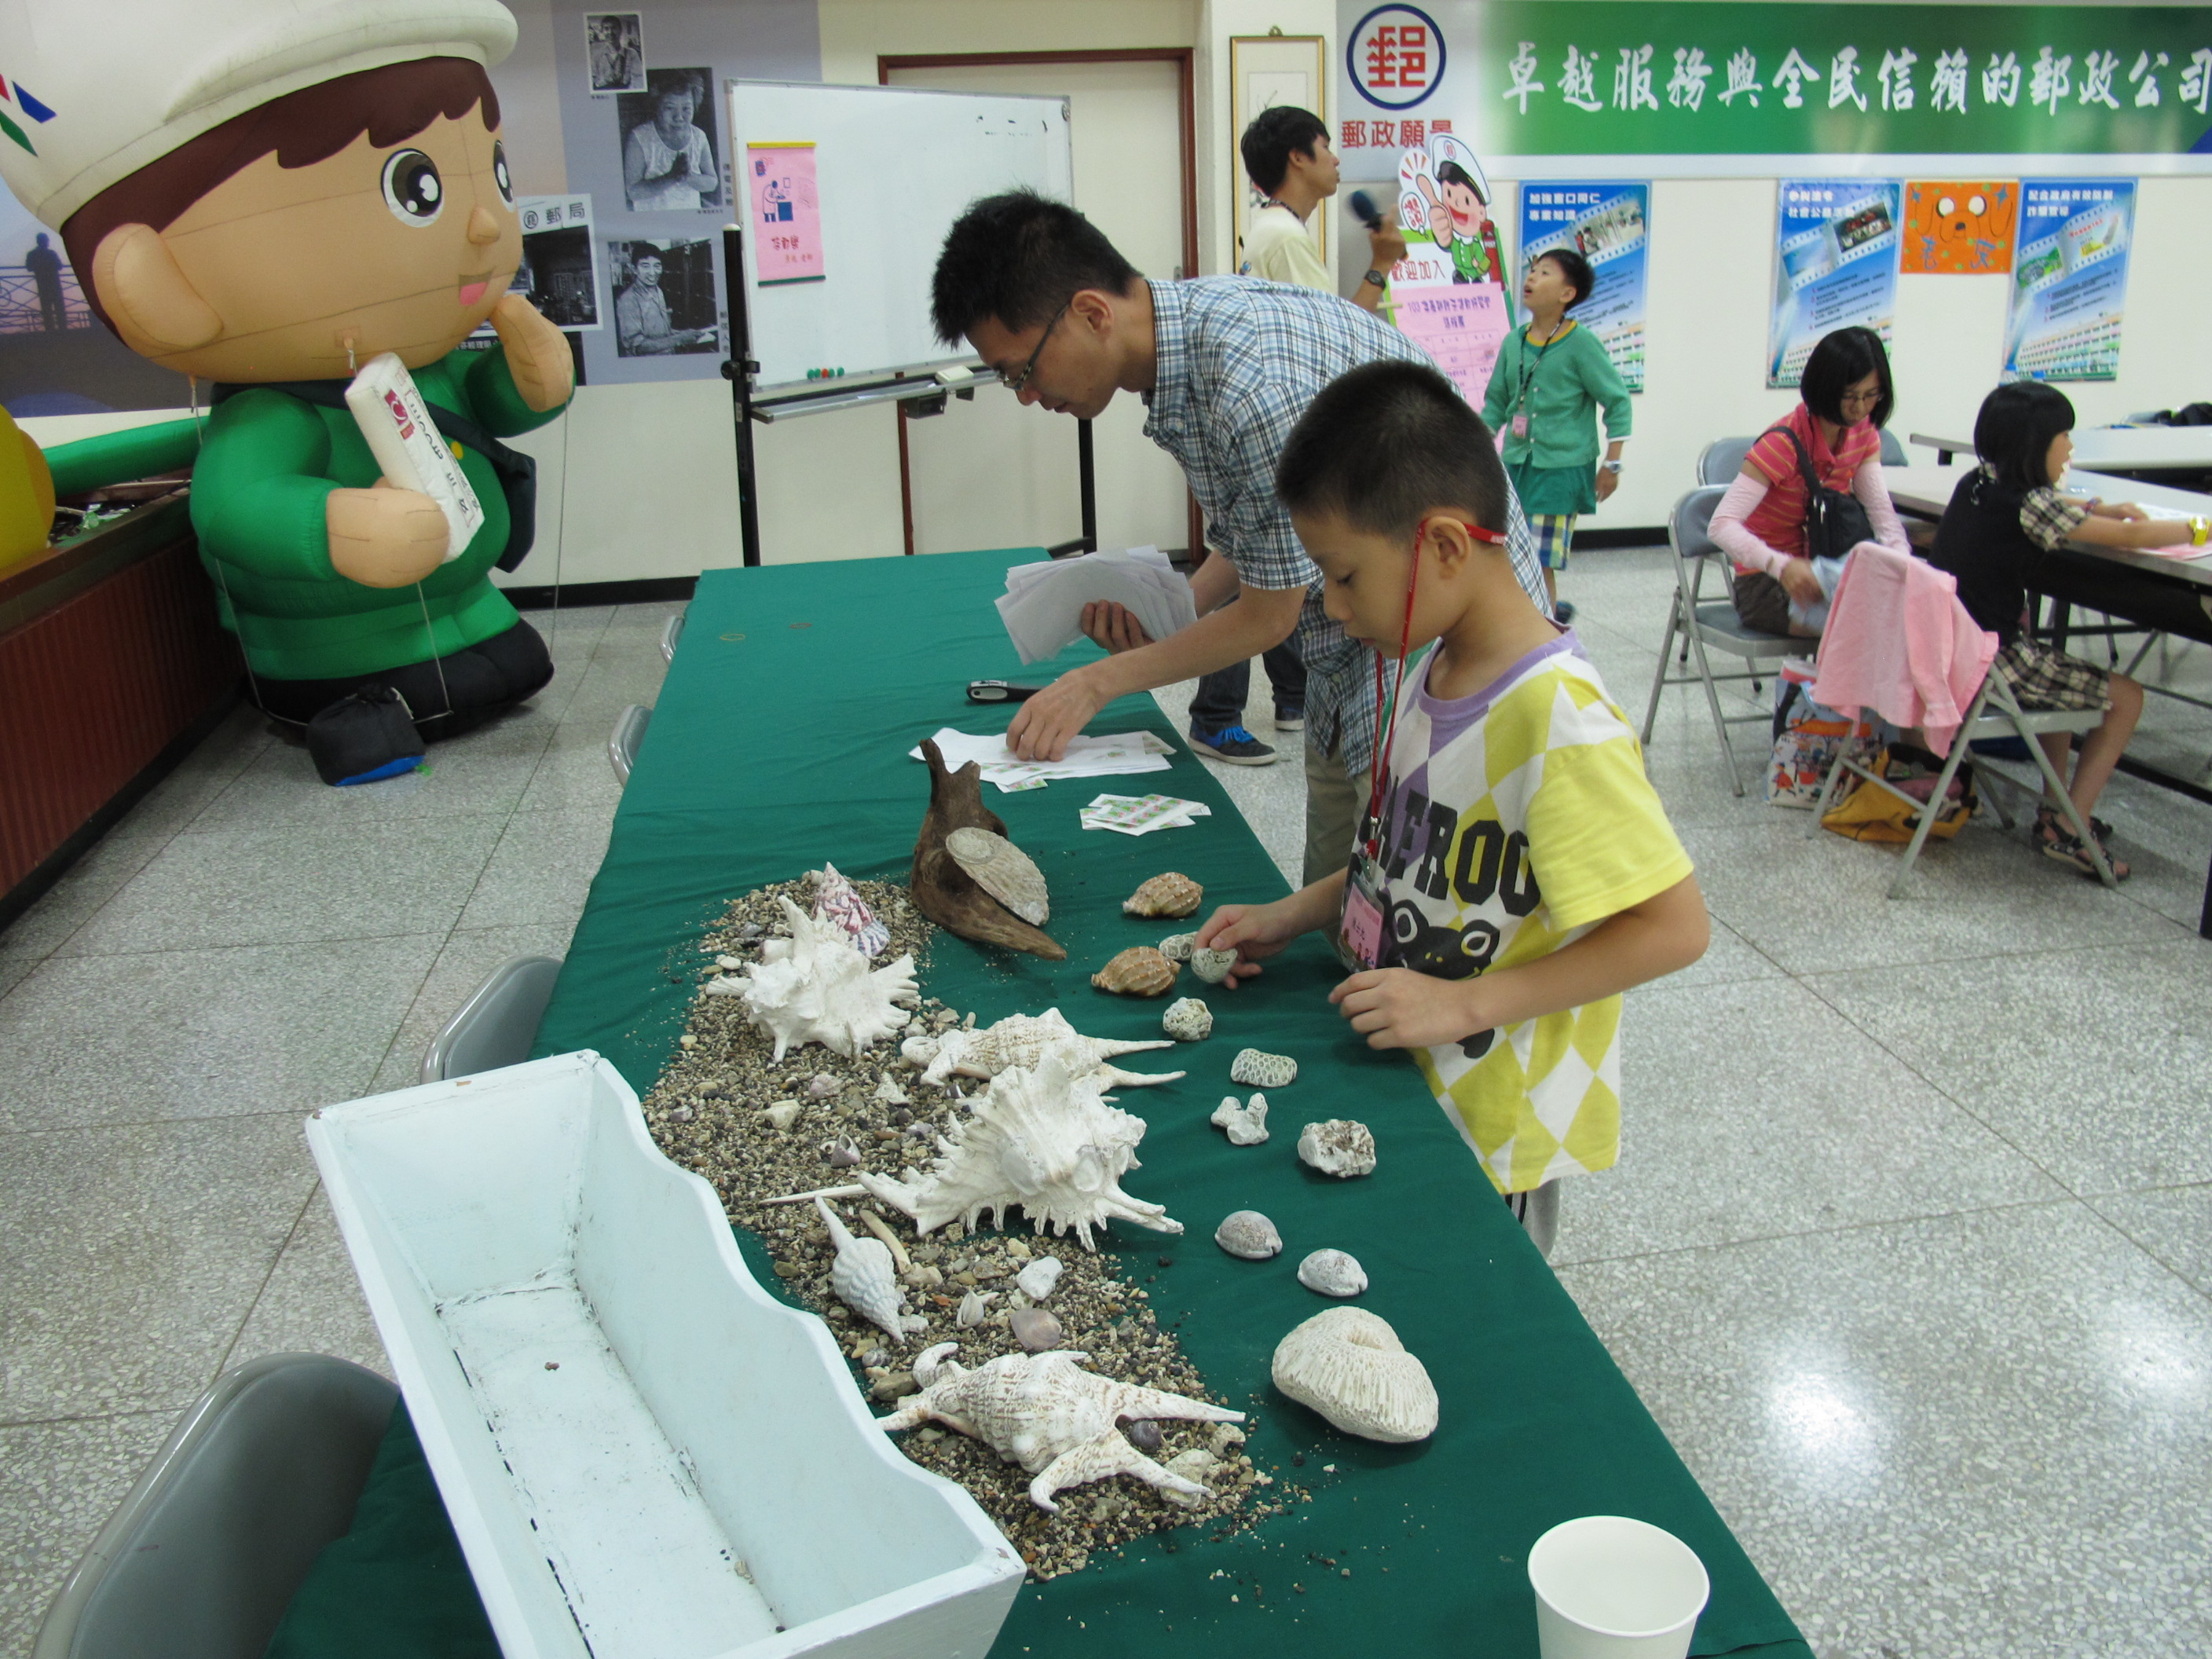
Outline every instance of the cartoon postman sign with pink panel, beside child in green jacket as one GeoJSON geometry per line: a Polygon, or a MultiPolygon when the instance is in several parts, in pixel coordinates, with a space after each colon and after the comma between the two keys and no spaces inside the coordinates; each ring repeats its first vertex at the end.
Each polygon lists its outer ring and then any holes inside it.
{"type": "Polygon", "coordinates": [[[1405,259],[1391,265],[1391,321],[1482,405],[1513,310],[1491,223],[1491,181],[1449,133],[1398,157],[1405,259]]]}

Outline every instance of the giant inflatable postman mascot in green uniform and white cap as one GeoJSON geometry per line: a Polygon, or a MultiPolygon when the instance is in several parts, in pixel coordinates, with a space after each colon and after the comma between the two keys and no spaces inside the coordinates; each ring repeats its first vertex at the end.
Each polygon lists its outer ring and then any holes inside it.
{"type": "Polygon", "coordinates": [[[327,783],[553,677],[491,586],[573,363],[522,252],[498,0],[0,0],[0,175],[206,418],[49,451],[71,493],[192,465],[254,701],[327,783]],[[498,343],[458,349],[482,323],[498,343]],[[418,737],[420,734],[420,737],[418,737]]]}

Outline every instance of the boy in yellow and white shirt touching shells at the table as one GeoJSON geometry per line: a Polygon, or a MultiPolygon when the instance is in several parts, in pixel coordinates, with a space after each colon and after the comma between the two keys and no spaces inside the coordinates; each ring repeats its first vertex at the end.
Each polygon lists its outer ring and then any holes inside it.
{"type": "Polygon", "coordinates": [[[1199,945],[1230,984],[1321,929],[1329,1000],[1413,1048],[1438,1104],[1548,1252],[1557,1181],[1619,1157],[1621,991],[1705,953],[1705,900],[1628,719],[1513,580],[1506,478],[1429,367],[1369,363],[1292,429],[1276,493],[1323,604],[1405,670],[1349,869],[1228,905],[1199,945]]]}

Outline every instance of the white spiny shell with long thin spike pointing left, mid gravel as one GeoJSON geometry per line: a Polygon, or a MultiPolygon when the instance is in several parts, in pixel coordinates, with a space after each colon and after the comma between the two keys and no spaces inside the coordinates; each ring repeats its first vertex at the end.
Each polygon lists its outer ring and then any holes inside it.
{"type": "Polygon", "coordinates": [[[1053,1044],[1035,1068],[1002,1071],[969,1102],[967,1117],[938,1139],[940,1157],[922,1179],[891,1181],[867,1170],[854,1170],[854,1179],[914,1217],[918,1232],[947,1221],[973,1230],[984,1210],[995,1228],[1022,1206],[1037,1232],[1073,1228],[1086,1250],[1097,1250],[1091,1230],[1106,1221],[1183,1230],[1164,1206],[1121,1190],[1141,1139],[1144,1119],[1106,1104],[1091,1051],[1053,1044]]]}

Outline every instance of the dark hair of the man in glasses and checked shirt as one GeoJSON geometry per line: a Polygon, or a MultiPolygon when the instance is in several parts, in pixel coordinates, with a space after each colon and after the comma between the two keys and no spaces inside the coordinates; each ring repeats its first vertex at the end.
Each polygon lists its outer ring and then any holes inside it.
{"type": "Polygon", "coordinates": [[[929,283],[929,321],[958,345],[987,316],[1020,334],[1084,288],[1126,294],[1137,268],[1066,201],[1035,190],[984,197],[953,219],[929,283]]]}

